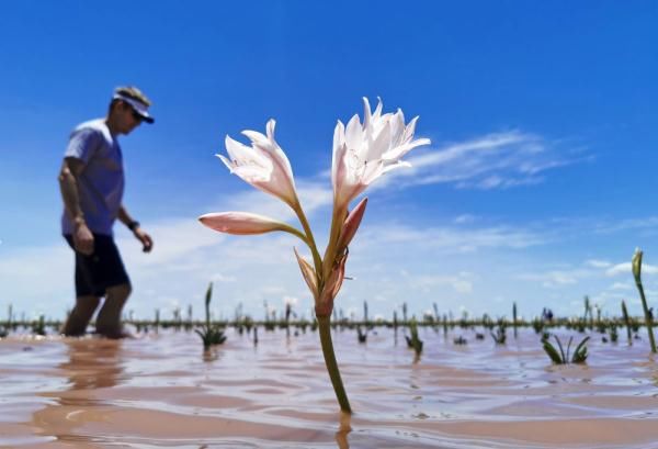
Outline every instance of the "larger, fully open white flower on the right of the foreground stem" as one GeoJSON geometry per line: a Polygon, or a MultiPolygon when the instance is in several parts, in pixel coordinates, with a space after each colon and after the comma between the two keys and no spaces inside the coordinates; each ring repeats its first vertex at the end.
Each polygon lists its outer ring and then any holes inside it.
{"type": "Polygon", "coordinates": [[[354,114],[347,126],[339,121],[333,131],[331,182],[334,210],[348,207],[385,172],[409,166],[401,158],[411,149],[430,144],[428,138],[413,141],[418,117],[405,125],[401,110],[382,115],[381,100],[374,112],[371,112],[366,98],[363,103],[363,124],[354,114]]]}

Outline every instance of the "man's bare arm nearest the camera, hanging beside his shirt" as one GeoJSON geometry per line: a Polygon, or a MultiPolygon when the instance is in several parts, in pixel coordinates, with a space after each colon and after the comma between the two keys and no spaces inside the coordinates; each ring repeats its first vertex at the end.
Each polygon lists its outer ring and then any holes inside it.
{"type": "Polygon", "coordinates": [[[90,255],[93,252],[93,235],[87,227],[87,222],[84,222],[84,213],[80,206],[80,194],[78,192],[78,178],[83,169],[84,162],[82,160],[67,157],[61,164],[58,180],[66,213],[75,225],[73,246],[78,251],[90,255]]]}

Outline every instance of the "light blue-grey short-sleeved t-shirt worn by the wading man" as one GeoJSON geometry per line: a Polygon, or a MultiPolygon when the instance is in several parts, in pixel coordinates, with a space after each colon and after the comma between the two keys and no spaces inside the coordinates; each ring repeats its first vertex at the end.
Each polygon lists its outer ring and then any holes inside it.
{"type": "MultiPolygon", "coordinates": [[[[80,207],[92,233],[113,235],[124,192],[124,168],[121,147],[110,134],[104,119],[78,125],[71,133],[64,157],[84,162],[78,177],[80,207]]],[[[66,209],[61,215],[61,233],[72,234],[73,223],[66,209]]]]}

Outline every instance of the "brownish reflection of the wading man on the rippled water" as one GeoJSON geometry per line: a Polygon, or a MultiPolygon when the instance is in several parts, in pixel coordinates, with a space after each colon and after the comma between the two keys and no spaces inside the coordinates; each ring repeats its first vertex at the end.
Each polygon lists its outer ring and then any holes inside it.
{"type": "Polygon", "coordinates": [[[81,338],[64,343],[68,360],[58,368],[68,378],[69,389],[48,393],[55,403],[35,412],[32,422],[41,435],[59,441],[91,441],[91,436],[81,436],[76,428],[86,423],[86,416],[94,416],[94,411],[106,405],[99,399],[98,391],[116,385],[123,373],[122,341],[81,338]]]}

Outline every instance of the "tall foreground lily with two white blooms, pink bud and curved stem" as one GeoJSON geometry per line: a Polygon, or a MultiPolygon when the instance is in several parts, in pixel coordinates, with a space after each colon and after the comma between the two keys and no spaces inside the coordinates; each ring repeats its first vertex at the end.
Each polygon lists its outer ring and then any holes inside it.
{"type": "Polygon", "coordinates": [[[348,413],[351,412],[351,407],[333,352],[330,319],[333,301],[345,277],[348,245],[361,224],[367,199],[362,199],[351,211],[350,204],[382,175],[409,166],[401,160],[407,153],[430,143],[424,138],[413,139],[418,117],[405,124],[401,110],[395,114],[382,114],[381,101],[374,112],[371,111],[367,99],[364,98],[363,102],[363,123],[359,115],[354,114],[347,126],[339,121],[333,132],[333,211],[329,243],[324,256],[320,256],[297,197],[291,162],[274,139],[274,120],[268,122],[266,134],[256,131],[242,132],[251,141],[251,146],[226,136],[225,144],[229,157],[218,156],[231,173],[286,203],[295,212],[302,229],[248,212],[212,213],[198,218],[204,225],[227,234],[253,235],[282,231],[299,238],[308,247],[313,262],[299,255],[296,248],[294,251],[302,276],[315,300],[315,315],[329,378],[341,409],[348,413]]]}

